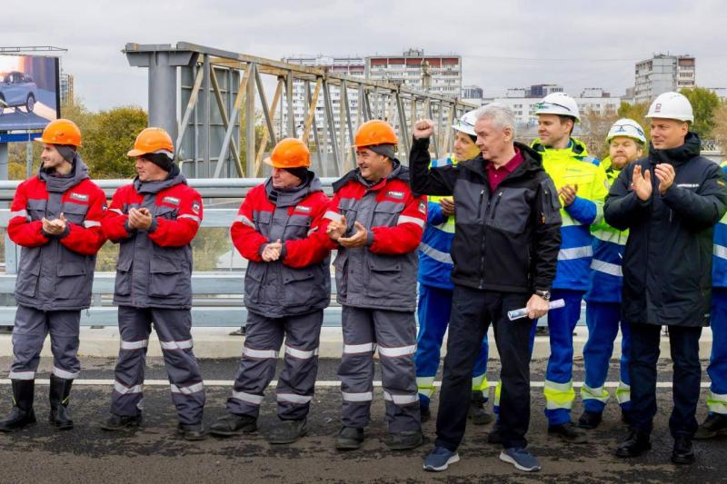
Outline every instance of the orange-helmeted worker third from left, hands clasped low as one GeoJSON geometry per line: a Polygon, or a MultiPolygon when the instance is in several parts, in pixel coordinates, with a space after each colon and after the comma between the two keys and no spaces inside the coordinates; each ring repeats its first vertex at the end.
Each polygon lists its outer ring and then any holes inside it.
{"type": "Polygon", "coordinates": [[[287,444],[307,432],[318,341],[331,300],[328,237],[319,230],[329,200],[318,177],[308,171],[310,153],[301,140],[281,140],[265,163],[273,166],[273,176],[247,193],[231,229],[235,248],[249,261],[244,276],[247,331],[227,400],[230,413],[210,431],[230,436],[256,430],[264,390],[273,380],[285,339],[277,386],[282,423],[268,440],[287,444]]]}

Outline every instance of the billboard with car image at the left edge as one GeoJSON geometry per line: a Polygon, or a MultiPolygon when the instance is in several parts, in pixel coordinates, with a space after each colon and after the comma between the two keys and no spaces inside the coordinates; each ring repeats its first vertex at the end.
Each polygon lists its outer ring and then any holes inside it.
{"type": "Polygon", "coordinates": [[[0,54],[0,132],[38,130],[61,115],[57,57],[0,54]]]}

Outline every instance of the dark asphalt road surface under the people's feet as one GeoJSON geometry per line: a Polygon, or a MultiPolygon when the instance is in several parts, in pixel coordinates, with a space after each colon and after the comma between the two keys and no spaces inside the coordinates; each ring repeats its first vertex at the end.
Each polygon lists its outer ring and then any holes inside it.
{"type": "MultiPolygon", "coordinates": [[[[497,379],[497,361],[488,371],[497,379]]],[[[703,362],[704,364],[706,362],[703,362]]],[[[0,358],[7,368],[8,358],[0,358]]],[[[52,361],[43,360],[39,379],[47,378],[52,361]]],[[[546,434],[542,387],[545,361],[533,361],[533,414],[528,438],[531,451],[543,466],[526,474],[498,459],[500,449],[487,443],[490,425],[469,425],[460,448],[462,461],[442,473],[422,469],[423,457],[432,449],[434,421],[423,425],[424,445],[410,451],[393,452],[383,443],[381,388],[374,392],[373,423],[362,449],[338,452],[334,434],[339,428],[340,397],[336,388],[337,361],[321,362],[309,434],[289,446],[272,446],[264,435],[276,422],[274,391],[268,390],[259,420],[260,430],[250,436],[230,439],[210,437],[187,442],[175,433],[174,407],[165,380],[163,362],[148,361],[144,387],[144,426],[135,432],[107,433],[98,427],[108,409],[113,379],[113,360],[85,359],[84,371],[71,396],[75,429],[57,431],[47,423],[47,385],[36,387],[38,423],[14,434],[0,435],[0,482],[719,482],[727,481],[727,438],[695,443],[697,463],[678,467],[669,460],[672,439],[667,429],[672,391],[668,384],[658,390],[659,413],[652,435],[653,449],[639,459],[617,459],[613,449],[626,434],[618,407],[611,402],[604,422],[590,432],[587,444],[568,445],[546,434]],[[89,381],[97,380],[97,381],[89,381]],[[156,380],[156,382],[154,382],[156,380]],[[90,384],[89,384],[90,383],[90,384]]],[[[583,380],[582,362],[576,363],[575,381],[583,380]]],[[[202,361],[207,381],[207,423],[224,415],[224,403],[234,378],[237,361],[202,361]]],[[[280,365],[278,365],[280,366],[280,365]]],[[[671,381],[671,364],[662,361],[660,380],[671,381]]],[[[617,381],[617,363],[612,362],[609,381],[617,381]]],[[[704,375],[706,378],[706,375],[704,375]]],[[[704,418],[703,400],[698,414],[704,418]]],[[[10,385],[0,384],[0,411],[10,409],[10,385]]],[[[433,401],[436,408],[436,397],[433,401]]],[[[576,400],[573,418],[582,410],[576,400]]]]}

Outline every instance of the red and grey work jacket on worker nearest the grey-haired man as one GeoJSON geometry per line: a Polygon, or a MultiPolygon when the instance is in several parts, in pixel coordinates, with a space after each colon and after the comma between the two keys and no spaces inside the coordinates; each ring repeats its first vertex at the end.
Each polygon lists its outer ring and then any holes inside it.
{"type": "Polygon", "coordinates": [[[341,221],[344,215],[346,237],[356,232],[354,222],[368,231],[364,247],[348,249],[335,244],[336,297],[341,304],[392,311],[416,309],[417,248],[426,223],[426,197],[413,195],[409,169],[398,160],[393,163],[393,172],[373,186],[358,169],[334,183],[334,199],[325,218],[341,221]]]}

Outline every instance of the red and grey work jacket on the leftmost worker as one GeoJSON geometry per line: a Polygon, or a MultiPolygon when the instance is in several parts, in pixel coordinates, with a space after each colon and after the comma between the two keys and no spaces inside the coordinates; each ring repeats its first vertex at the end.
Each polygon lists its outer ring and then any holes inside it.
{"type": "Polygon", "coordinates": [[[66,176],[46,173],[25,180],[15,192],[7,232],[22,247],[15,301],[41,311],[88,308],[94,281],[96,252],[104,245],[101,230],[106,197],[88,179],[80,156],[66,176]],[[65,232],[43,231],[64,214],[65,232]]]}

